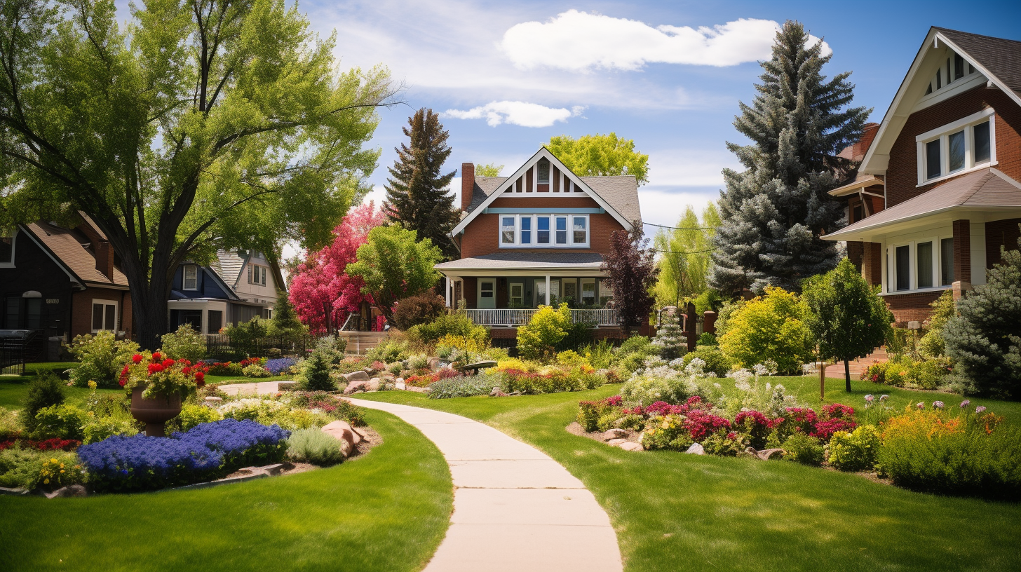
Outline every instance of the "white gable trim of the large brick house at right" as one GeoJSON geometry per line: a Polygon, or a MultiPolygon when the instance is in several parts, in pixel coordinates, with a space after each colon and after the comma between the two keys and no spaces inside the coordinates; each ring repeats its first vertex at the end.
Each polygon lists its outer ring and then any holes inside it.
{"type": "MultiPolygon", "coordinates": [[[[893,102],[890,103],[889,109],[887,109],[886,114],[883,115],[883,121],[879,124],[879,130],[876,133],[876,137],[873,139],[872,144],[869,145],[869,150],[865,153],[865,158],[862,159],[862,165],[859,169],[859,173],[882,175],[886,171],[889,163],[889,153],[878,153],[876,151],[880,148],[881,143],[887,137],[896,139],[896,136],[901,134],[901,129],[904,128],[904,124],[915,110],[915,104],[917,102],[906,102],[905,97],[907,96],[909,88],[915,83],[915,77],[922,67],[922,62],[925,60],[925,56],[929,54],[929,50],[938,47],[938,43],[949,46],[961,55],[961,57],[970,63],[979,74],[985,76],[988,82],[1000,88],[1001,91],[1006,93],[1018,105],[1021,105],[1021,97],[1018,97],[1018,95],[1014,93],[1014,90],[1007,87],[1003,81],[989,73],[984,65],[975,61],[975,58],[971,57],[968,52],[961,49],[960,46],[950,41],[938,30],[931,29],[925,37],[925,42],[923,42],[922,46],[918,49],[918,54],[915,55],[915,60],[908,69],[908,75],[905,77],[904,81],[901,82],[901,87],[897,88],[896,95],[893,96],[893,102]]],[[[892,145],[892,141],[890,144],[892,145]]]]}

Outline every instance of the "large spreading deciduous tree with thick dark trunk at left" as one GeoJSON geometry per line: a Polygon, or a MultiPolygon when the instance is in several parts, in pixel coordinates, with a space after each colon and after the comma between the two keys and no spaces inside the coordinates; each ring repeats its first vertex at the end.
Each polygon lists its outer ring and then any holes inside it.
{"type": "Polygon", "coordinates": [[[177,267],[326,242],[393,89],[284,0],[0,0],[0,224],[89,214],[155,346],[177,267]]]}

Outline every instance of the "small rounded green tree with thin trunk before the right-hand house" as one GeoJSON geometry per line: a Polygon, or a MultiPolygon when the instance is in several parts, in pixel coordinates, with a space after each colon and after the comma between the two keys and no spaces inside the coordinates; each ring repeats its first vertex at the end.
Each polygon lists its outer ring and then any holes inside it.
{"type": "Polygon", "coordinates": [[[849,361],[882,345],[893,322],[878,292],[879,287],[869,286],[846,257],[835,269],[804,284],[805,323],[819,344],[820,358],[843,362],[847,391],[849,361]]]}

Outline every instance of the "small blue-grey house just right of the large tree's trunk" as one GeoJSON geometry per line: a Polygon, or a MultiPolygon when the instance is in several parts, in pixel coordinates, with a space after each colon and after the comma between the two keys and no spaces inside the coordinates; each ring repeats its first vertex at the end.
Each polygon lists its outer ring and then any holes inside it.
{"type": "Polygon", "coordinates": [[[199,333],[216,334],[255,316],[273,318],[283,284],[279,267],[254,250],[220,250],[209,266],[185,263],[174,274],[167,326],[191,324],[199,333]]]}

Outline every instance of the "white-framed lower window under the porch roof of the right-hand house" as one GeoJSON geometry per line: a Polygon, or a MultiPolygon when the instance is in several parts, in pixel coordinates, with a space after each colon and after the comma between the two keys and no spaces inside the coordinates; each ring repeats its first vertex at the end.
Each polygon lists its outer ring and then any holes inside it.
{"type": "Polygon", "coordinates": [[[954,284],[954,237],[932,236],[890,244],[886,293],[945,288],[954,284]]]}

